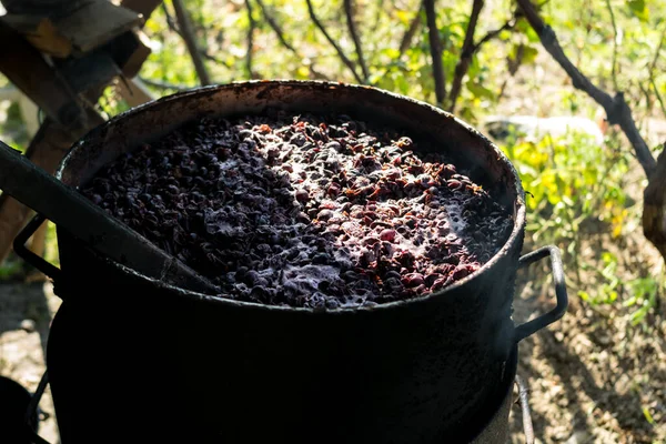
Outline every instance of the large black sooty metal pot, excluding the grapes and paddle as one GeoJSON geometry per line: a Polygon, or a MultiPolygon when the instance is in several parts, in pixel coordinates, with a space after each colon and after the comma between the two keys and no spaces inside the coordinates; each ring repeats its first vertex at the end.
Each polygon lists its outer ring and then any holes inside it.
{"type": "Polygon", "coordinates": [[[59,176],[78,185],[120,153],[186,121],[266,107],[345,113],[434,141],[474,180],[501,192],[513,211],[509,240],[482,270],[443,292],[314,312],[171,287],[95,258],[60,230],[56,291],[64,303],[53,322],[48,367],[63,443],[90,438],[81,436],[80,424],[98,415],[114,420],[119,437],[135,427],[168,426],[170,436],[189,442],[465,442],[496,396],[515,344],[511,310],[524,195],[506,158],[454,117],[337,83],[203,88],[93,130],[68,154],[59,176]],[[108,411],[98,403],[90,411],[93,393],[108,411]]]}

